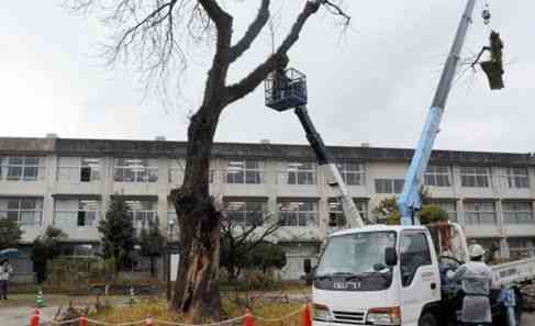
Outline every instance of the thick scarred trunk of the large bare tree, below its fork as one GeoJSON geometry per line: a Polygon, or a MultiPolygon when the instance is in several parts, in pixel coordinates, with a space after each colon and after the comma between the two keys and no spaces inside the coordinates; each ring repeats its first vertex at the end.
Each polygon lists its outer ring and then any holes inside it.
{"type": "Polygon", "coordinates": [[[191,119],[185,180],[171,191],[180,227],[180,262],[172,295],[174,311],[186,321],[220,319],[221,212],[209,192],[210,156],[222,106],[203,106],[191,119]]]}

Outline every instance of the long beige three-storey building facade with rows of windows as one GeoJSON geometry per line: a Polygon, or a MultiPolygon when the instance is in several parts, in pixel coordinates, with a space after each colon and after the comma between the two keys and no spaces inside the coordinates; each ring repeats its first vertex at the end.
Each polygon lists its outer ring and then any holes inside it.
{"type": "MultiPolygon", "coordinates": [[[[383,198],[401,192],[411,149],[330,147],[360,213],[374,220],[383,198]]],[[[98,221],[110,199],[123,196],[134,226],[176,218],[167,200],[183,178],[186,144],[159,140],[0,138],[0,218],[16,221],[30,244],[54,225],[69,236],[66,255],[98,250],[98,221]]],[[[535,157],[531,154],[435,150],[425,175],[433,201],[467,236],[500,247],[503,257],[535,255],[535,157]]],[[[287,250],[287,279],[317,252],[342,214],[309,146],[226,144],[213,149],[210,190],[222,210],[247,224],[280,216],[277,241],[287,250]]],[[[31,269],[30,263],[21,269],[31,269]]]]}

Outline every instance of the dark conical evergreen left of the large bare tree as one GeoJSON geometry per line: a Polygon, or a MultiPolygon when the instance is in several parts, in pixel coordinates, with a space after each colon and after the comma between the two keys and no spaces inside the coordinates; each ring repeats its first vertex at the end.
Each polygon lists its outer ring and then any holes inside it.
{"type": "Polygon", "coordinates": [[[105,218],[99,223],[102,256],[113,259],[116,271],[124,266],[125,258],[135,244],[135,229],[129,210],[123,199],[114,196],[105,212],[105,218]]]}

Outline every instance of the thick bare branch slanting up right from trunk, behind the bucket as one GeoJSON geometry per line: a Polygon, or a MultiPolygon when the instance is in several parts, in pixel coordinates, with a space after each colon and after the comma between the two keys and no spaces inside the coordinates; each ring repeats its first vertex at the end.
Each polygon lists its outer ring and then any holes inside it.
{"type": "Polygon", "coordinates": [[[282,41],[282,44],[277,48],[277,50],[272,55],[270,55],[264,63],[257,66],[244,79],[229,87],[229,104],[236,100],[239,100],[241,98],[254,91],[258,87],[258,85],[260,85],[267,78],[269,72],[275,70],[279,58],[285,57],[291,46],[299,40],[299,34],[306,23],[306,20],[317,11],[321,3],[321,0],[306,1],[306,4],[293,23],[290,32],[286,36],[285,41],[282,41]]]}

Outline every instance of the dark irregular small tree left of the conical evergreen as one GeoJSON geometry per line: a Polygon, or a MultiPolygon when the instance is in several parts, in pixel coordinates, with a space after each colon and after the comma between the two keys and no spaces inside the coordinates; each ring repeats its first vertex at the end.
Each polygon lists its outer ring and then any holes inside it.
{"type": "Polygon", "coordinates": [[[33,269],[37,277],[37,282],[46,281],[47,262],[59,256],[59,244],[68,238],[60,228],[48,226],[45,234],[35,238],[32,244],[33,269]]]}

